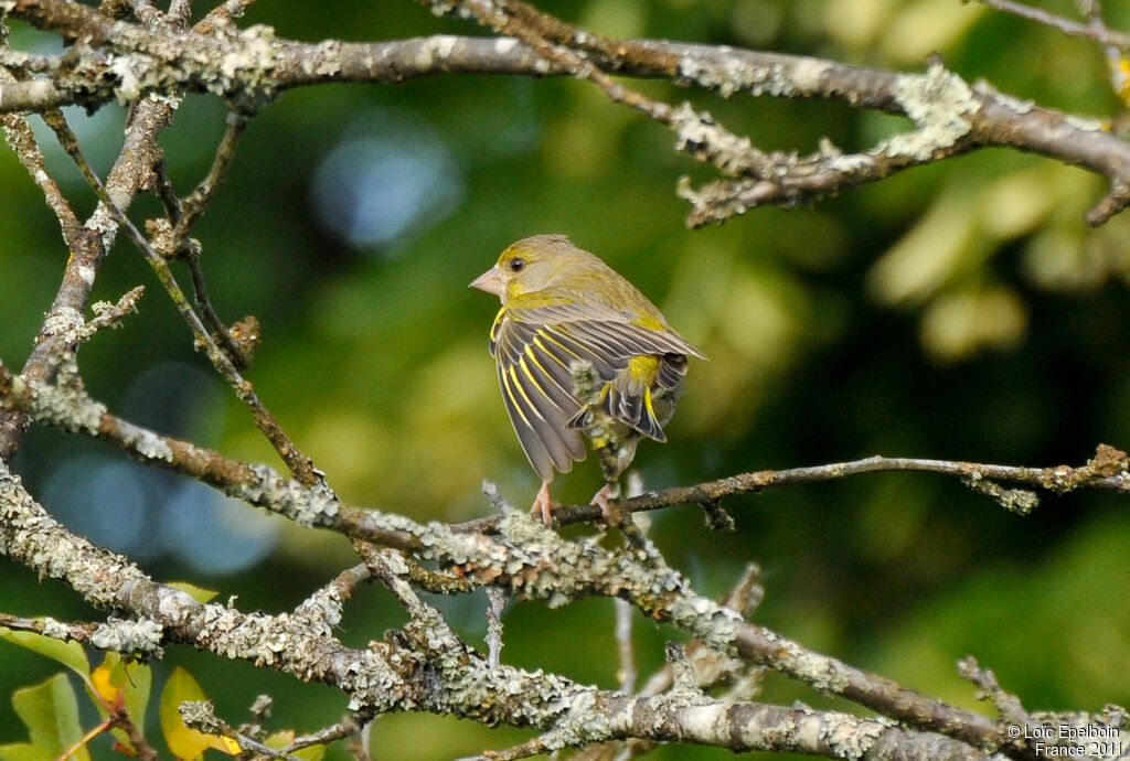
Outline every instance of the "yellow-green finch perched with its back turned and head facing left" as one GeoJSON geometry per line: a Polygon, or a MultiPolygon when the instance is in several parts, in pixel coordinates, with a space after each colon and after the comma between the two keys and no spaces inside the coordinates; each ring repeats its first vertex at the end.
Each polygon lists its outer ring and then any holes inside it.
{"type": "Polygon", "coordinates": [[[608,513],[640,439],[666,441],[687,356],[705,357],[610,266],[564,235],[511,245],[471,285],[502,300],[490,356],[518,439],[541,479],[534,511],[551,523],[549,483],[584,460],[582,434],[600,457],[608,513]]]}

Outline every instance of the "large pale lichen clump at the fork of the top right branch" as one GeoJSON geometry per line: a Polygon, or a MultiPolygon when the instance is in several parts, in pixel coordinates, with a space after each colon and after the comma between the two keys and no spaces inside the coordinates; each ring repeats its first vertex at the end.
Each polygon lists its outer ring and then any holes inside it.
{"type": "Polygon", "coordinates": [[[968,117],[981,108],[981,102],[965,80],[938,63],[924,75],[898,76],[895,99],[919,129],[888,138],[879,150],[919,161],[928,160],[936,150],[949,148],[968,134],[972,126],[968,117]]]}

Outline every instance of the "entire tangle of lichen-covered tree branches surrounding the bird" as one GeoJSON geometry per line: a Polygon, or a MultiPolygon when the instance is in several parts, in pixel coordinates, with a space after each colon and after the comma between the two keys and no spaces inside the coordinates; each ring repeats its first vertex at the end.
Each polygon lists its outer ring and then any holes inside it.
{"type": "MultiPolygon", "coordinates": [[[[189,235],[211,204],[254,114],[287,89],[331,82],[391,84],[463,72],[583,78],[611,103],[670,129],[678,150],[718,170],[718,181],[697,189],[686,182],[680,186],[692,204],[694,225],[721,221],[765,203],[788,205],[835,193],[985,146],[1037,152],[1107,177],[1111,191],[1089,217],[1098,224],[1130,203],[1130,148],[1124,142],[1093,123],[1017,102],[984,84],[970,85],[940,62],[931,62],[924,72],[902,73],[722,46],[614,41],[516,0],[427,3],[440,11],[462,12],[502,35],[493,38],[436,35],[382,43],[299,43],[278,38],[269,27],[235,27],[232,19],[247,5],[250,0],[229,0],[190,28],[191,9],[184,0],[173,0],[167,11],[150,2],[95,9],[71,0],[0,0],[0,14],[69,43],[62,55],[41,55],[12,50],[0,40],[0,114],[9,145],[43,193],[71,251],[27,364],[16,374],[0,362],[0,554],[41,576],[62,579],[94,607],[110,612],[104,621],[89,624],[5,613],[0,626],[146,657],[159,657],[169,644],[186,644],[331,684],[349,697],[356,714],[320,735],[327,738],[354,734],[359,721],[382,711],[420,710],[540,733],[496,758],[625,740],[845,759],[1033,756],[1023,741],[1008,736],[1002,721],[808,649],[748,621],[746,606],[737,601],[719,603],[703,596],[643,532],[633,531],[631,517],[619,532],[625,541],[617,544],[608,536],[563,539],[513,510],[489,484],[486,491],[501,515],[460,526],[419,523],[340,502],[241,375],[258,341],[258,324],[246,318],[234,329],[224,325],[207,295],[200,246],[189,235]],[[127,20],[131,17],[138,23],[127,20]],[[662,78],[722,97],[840,99],[857,108],[906,116],[912,126],[854,155],[827,142],[808,156],[767,152],[710,114],[687,103],[645,97],[611,75],[662,78]],[[194,192],[181,198],[164,170],[156,139],[190,91],[223,98],[229,119],[208,174],[194,192]],[[129,104],[131,113],[121,155],[103,184],[59,108],[73,104],[93,110],[110,102],[129,104]],[[85,222],[46,174],[35,137],[17,113],[25,111],[43,115],[97,192],[99,204],[85,222]],[[166,215],[150,220],[149,238],[127,216],[144,190],[155,191],[166,215]],[[252,408],[257,423],[290,466],[292,478],[122,420],[87,394],[78,373],[78,347],[97,331],[119,325],[141,295],[134,289],[116,305],[94,305],[96,316],[86,318],[94,282],[119,231],[153,264],[198,347],[252,408]],[[174,260],[189,264],[195,305],[173,278],[174,260]],[[24,489],[6,463],[33,421],[97,438],[128,456],[197,479],[302,526],[340,533],[354,541],[365,562],[342,571],[293,611],[245,613],[234,604],[199,603],[150,578],[128,558],[69,532],[24,489]],[[365,649],[347,647],[337,638],[336,627],[357,586],[373,578],[388,587],[409,621],[365,649]],[[418,594],[477,587],[490,591],[486,654],[461,639],[418,594]],[[669,646],[667,667],[636,694],[505,665],[499,618],[505,598],[537,598],[558,606],[585,596],[617,600],[621,622],[627,622],[632,609],[638,610],[692,641],[686,647],[669,646]],[[754,701],[751,691],[739,689],[712,698],[703,689],[718,684],[721,674],[737,680],[763,668],[822,694],[854,701],[879,717],[765,705],[754,701]]],[[[1109,36],[1089,36],[1118,44],[1109,36]]],[[[642,493],[621,507],[631,515],[697,502],[723,525],[718,502],[725,497],[879,471],[957,476],[1020,513],[1035,505],[1035,490],[1130,489],[1127,455],[1102,446],[1079,467],[871,457],[642,493]]],[[[555,517],[560,523],[600,519],[591,506],[564,508],[555,517]]],[[[619,637],[628,674],[634,665],[626,626],[619,637]]],[[[963,672],[991,697],[1002,718],[1043,720],[1005,692],[991,672],[973,662],[964,664],[963,672]]],[[[216,726],[235,732],[207,711],[195,715],[200,721],[219,721],[216,726]]]]}

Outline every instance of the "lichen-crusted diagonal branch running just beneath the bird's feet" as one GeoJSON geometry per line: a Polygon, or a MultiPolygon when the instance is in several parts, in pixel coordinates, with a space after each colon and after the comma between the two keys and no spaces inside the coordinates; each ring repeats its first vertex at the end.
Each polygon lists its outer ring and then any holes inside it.
{"type": "MultiPolygon", "coordinates": [[[[9,376],[10,377],[10,376],[9,376]]],[[[52,401],[52,392],[31,394],[17,379],[3,383],[0,395],[35,410],[37,419],[130,448],[155,464],[174,461],[174,444],[164,437],[141,436],[136,427],[123,428],[101,405],[73,399],[71,404],[52,401]],[[6,385],[10,392],[6,392],[6,385]],[[61,417],[68,406],[88,410],[77,420],[61,417]],[[80,422],[85,421],[85,422],[80,422]],[[132,441],[150,441],[138,447],[132,441]],[[145,451],[149,451],[146,454],[145,451]],[[160,456],[157,456],[157,455],[160,456]]],[[[303,525],[329,527],[354,537],[409,551],[420,560],[458,571],[469,581],[502,587],[521,597],[541,598],[550,605],[599,595],[627,600],[647,616],[667,621],[701,639],[709,647],[740,655],[812,685],[841,694],[892,718],[942,732],[974,744],[1003,741],[989,719],[921,696],[877,674],[869,674],[834,658],[814,653],[764,627],[742,620],[732,610],[694,592],[687,579],[670,568],[650,543],[608,550],[596,539],[562,540],[555,532],[508,509],[497,492],[493,500],[505,515],[498,536],[455,532],[440,524],[418,524],[401,516],[340,505],[318,490],[282,479],[263,465],[245,465],[219,458],[184,443],[175,444],[179,469],[192,469],[203,480],[218,476],[226,493],[280,513],[303,525]],[[220,466],[214,467],[218,464],[220,466]]]]}

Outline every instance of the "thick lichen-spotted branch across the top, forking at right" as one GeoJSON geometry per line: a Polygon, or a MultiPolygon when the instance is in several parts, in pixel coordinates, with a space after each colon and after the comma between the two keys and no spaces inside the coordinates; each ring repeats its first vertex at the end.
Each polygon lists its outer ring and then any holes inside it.
{"type": "MultiPolygon", "coordinates": [[[[434,36],[383,43],[297,43],[269,29],[228,26],[158,33],[112,20],[68,0],[11,0],[11,15],[40,28],[80,40],[78,54],[33,78],[0,84],[0,112],[43,111],[76,103],[96,107],[146,93],[206,90],[241,112],[253,112],[294,87],[319,82],[398,82],[438,73],[579,75],[615,102],[637,108],[676,131],[677,147],[715,166],[728,178],[699,189],[684,184],[692,225],[723,221],[758,205],[792,205],[914,166],[1001,146],[1084,166],[1110,181],[1110,194],[1087,221],[1099,225],[1130,203],[1130,146],[1078,119],[970,85],[935,63],[929,71],[894,72],[808,56],[677,42],[608,41],[519,2],[441,2],[467,8],[483,23],[518,34],[493,40],[434,36]],[[77,62],[76,62],[77,61],[77,62]],[[763,152],[710,114],[633,94],[607,73],[666,78],[723,97],[749,93],[788,98],[832,98],[857,108],[901,114],[914,129],[870,149],[845,154],[826,143],[807,156],[763,152]]],[[[28,68],[20,54],[12,62],[28,68]]],[[[3,63],[0,56],[0,63],[3,63]]]]}

